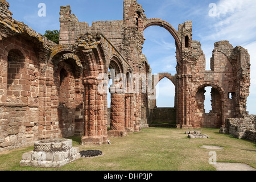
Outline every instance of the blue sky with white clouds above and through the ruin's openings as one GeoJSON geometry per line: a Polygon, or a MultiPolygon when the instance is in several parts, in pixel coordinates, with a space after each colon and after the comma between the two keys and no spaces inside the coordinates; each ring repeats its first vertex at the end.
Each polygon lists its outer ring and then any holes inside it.
{"type": "MultiPolygon", "coordinates": [[[[71,5],[72,13],[80,22],[98,20],[122,20],[122,0],[9,0],[13,18],[28,24],[35,31],[44,34],[46,30],[59,30],[60,6],[71,5]],[[38,4],[46,4],[46,17],[38,16],[38,4]]],[[[256,114],[256,1],[255,0],[137,0],[145,10],[147,18],[166,20],[177,30],[179,24],[186,20],[193,22],[193,40],[202,44],[206,56],[207,68],[214,43],[229,40],[234,46],[242,46],[250,53],[251,87],[247,101],[247,110],[256,114]],[[209,16],[210,3],[217,6],[216,16],[209,16]]],[[[172,36],[162,27],[149,27],[144,31],[146,41],[143,53],[151,65],[152,73],[169,72],[175,75],[175,42],[172,36]]],[[[208,89],[209,90],[209,89],[208,89]]],[[[174,85],[167,79],[159,82],[158,106],[174,105],[174,85]]],[[[209,94],[206,109],[209,110],[209,94]]]]}

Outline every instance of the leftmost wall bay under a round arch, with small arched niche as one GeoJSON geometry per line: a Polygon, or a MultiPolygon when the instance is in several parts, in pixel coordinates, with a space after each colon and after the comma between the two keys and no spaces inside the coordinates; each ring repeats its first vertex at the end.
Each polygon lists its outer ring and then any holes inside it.
{"type": "MultiPolygon", "coordinates": [[[[1,41],[1,141],[8,149],[39,135],[39,65],[30,42],[14,36],[1,41]]],[[[0,148],[0,150],[1,150],[0,148]]]]}

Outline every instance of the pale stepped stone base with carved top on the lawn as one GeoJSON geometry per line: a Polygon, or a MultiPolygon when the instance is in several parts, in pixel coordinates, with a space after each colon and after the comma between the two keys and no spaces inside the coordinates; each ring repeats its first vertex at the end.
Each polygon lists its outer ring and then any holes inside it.
{"type": "Polygon", "coordinates": [[[34,143],[34,151],[22,155],[20,166],[59,168],[79,158],[79,148],[72,147],[71,139],[40,140],[34,143]]]}

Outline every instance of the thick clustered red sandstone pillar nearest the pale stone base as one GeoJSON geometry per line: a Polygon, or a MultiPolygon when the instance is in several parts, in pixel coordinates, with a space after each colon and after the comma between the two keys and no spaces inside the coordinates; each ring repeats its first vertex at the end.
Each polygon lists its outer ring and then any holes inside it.
{"type": "Polygon", "coordinates": [[[85,131],[81,138],[82,145],[101,145],[104,138],[104,95],[98,93],[96,77],[84,79],[85,85],[85,131]]]}

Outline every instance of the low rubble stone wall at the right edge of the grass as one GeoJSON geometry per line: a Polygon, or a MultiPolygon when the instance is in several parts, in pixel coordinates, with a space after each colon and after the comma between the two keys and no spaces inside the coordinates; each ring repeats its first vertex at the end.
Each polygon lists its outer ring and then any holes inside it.
{"type": "Polygon", "coordinates": [[[248,139],[256,142],[256,115],[246,115],[244,118],[227,118],[225,127],[221,127],[220,133],[229,133],[239,139],[248,139]]]}

